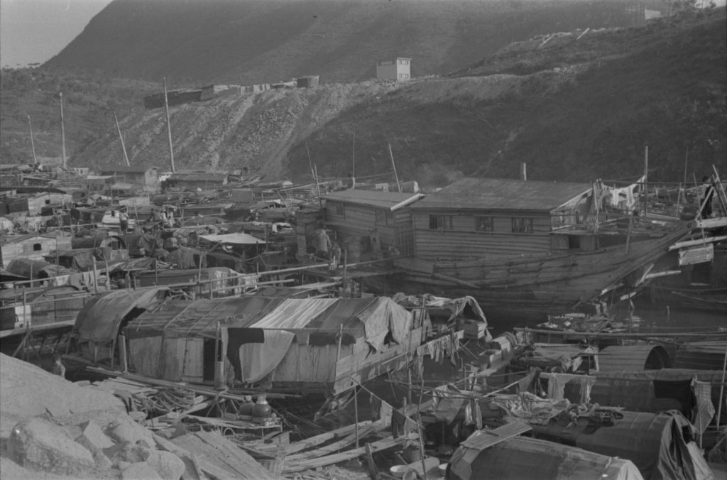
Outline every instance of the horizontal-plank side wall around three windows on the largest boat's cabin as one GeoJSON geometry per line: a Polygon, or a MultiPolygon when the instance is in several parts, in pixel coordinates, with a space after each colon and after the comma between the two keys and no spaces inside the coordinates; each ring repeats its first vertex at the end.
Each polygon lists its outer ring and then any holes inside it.
{"type": "Polygon", "coordinates": [[[550,215],[522,212],[443,212],[416,210],[415,253],[424,260],[473,260],[489,255],[517,255],[550,249],[550,215]],[[429,215],[451,215],[452,230],[429,228],[429,215]],[[475,217],[494,217],[494,231],[475,231],[475,217]],[[512,218],[533,220],[533,233],[513,233],[512,218]]]}

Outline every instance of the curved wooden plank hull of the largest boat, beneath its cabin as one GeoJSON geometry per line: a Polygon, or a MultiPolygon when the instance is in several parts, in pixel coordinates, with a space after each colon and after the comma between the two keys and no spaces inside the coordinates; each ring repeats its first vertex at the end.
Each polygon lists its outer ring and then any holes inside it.
{"type": "MultiPolygon", "coordinates": [[[[645,273],[674,241],[688,233],[680,225],[628,244],[593,251],[492,257],[462,262],[434,262],[417,257],[394,260],[383,281],[367,284],[391,294],[428,292],[446,297],[475,297],[490,316],[534,321],[603,302],[608,295],[632,296],[645,284],[645,273]]],[[[609,299],[613,300],[613,298],[609,299]]]]}

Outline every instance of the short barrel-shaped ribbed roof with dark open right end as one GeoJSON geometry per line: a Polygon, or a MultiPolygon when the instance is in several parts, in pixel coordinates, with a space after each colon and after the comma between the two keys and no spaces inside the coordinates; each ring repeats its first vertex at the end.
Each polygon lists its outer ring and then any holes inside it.
{"type": "Polygon", "coordinates": [[[671,367],[672,360],[662,345],[612,345],[598,352],[601,372],[642,372],[671,367]]]}

